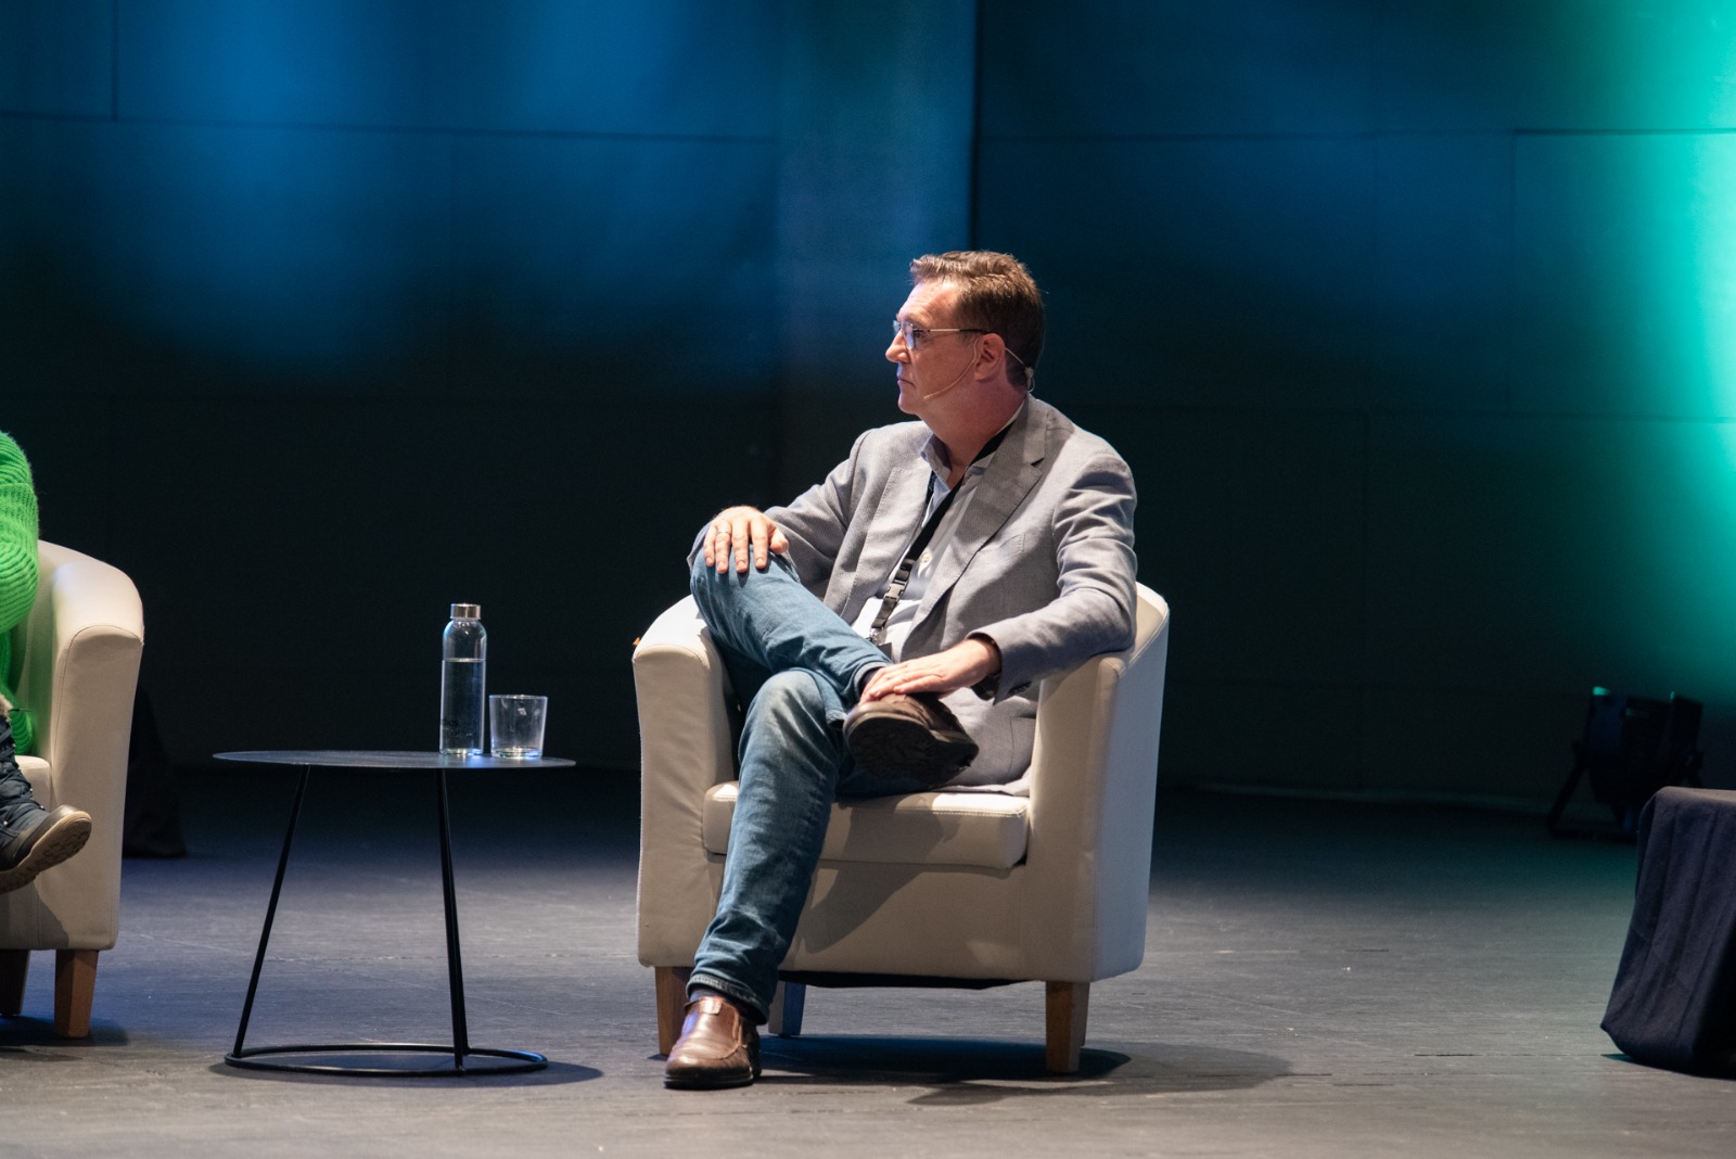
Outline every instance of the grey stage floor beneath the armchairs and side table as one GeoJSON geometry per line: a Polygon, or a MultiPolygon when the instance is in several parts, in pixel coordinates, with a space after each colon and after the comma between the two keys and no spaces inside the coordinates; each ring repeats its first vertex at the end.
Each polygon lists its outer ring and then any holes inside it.
{"type": "MultiPolygon", "coordinates": [[[[193,855],[128,861],[95,1032],[0,1024],[0,1156],[1729,1156],[1736,1083],[1597,1029],[1634,850],[1529,817],[1160,793],[1144,966],[1092,991],[1085,1069],[1042,1069],[1042,991],[814,991],[748,1090],[661,1086],[634,961],[634,786],[457,784],[470,1038],[523,1077],[240,1072],[234,1036],[292,782],[184,777],[193,855]]],[[[250,1044],[448,1034],[432,796],[321,781],[250,1044]]]]}

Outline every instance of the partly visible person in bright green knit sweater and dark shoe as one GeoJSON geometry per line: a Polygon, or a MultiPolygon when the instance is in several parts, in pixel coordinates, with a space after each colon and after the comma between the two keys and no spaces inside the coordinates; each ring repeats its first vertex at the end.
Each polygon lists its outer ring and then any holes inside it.
{"type": "Polygon", "coordinates": [[[90,840],[90,814],[61,805],[47,810],[31,796],[17,767],[33,732],[30,713],[12,706],[12,628],[36,602],[36,491],[30,463],[0,432],[0,894],[10,894],[57,866],[90,840]]]}

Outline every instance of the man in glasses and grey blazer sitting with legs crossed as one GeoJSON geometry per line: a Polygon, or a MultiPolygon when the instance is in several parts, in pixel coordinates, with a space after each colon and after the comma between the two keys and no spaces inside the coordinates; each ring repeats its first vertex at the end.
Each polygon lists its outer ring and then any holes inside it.
{"type": "Polygon", "coordinates": [[[885,357],[920,422],[863,434],[788,507],[720,512],[689,557],[745,715],[670,1086],[757,1077],[755,1027],[838,795],[1014,781],[1038,682],[1134,638],[1132,474],[1029,397],[1043,345],[1029,272],[981,252],[910,272],[885,357]]]}

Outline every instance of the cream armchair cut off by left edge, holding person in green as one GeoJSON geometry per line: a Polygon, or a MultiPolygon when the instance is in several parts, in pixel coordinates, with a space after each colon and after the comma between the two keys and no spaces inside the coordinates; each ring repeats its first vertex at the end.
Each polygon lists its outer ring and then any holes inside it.
{"type": "Polygon", "coordinates": [[[0,1013],[24,1003],[30,951],[56,951],[54,1029],[90,1032],[97,953],[120,933],[120,841],[127,739],[144,647],[139,592],[122,571],[54,543],[38,545],[42,583],[14,632],[17,701],[36,715],[36,753],[19,758],[36,800],[90,814],[90,841],[71,861],[0,897],[0,1013]]]}

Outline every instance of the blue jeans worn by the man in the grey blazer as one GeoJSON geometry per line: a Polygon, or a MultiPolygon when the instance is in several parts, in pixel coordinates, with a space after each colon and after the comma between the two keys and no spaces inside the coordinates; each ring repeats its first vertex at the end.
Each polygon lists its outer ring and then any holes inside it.
{"type": "Polygon", "coordinates": [[[766,571],[738,574],[731,566],[722,576],[701,557],[691,586],[746,710],[724,888],[687,985],[722,991],[764,1022],[832,802],[922,786],[851,762],[844,715],[868,671],[889,661],[807,592],[781,555],[766,571]]]}

